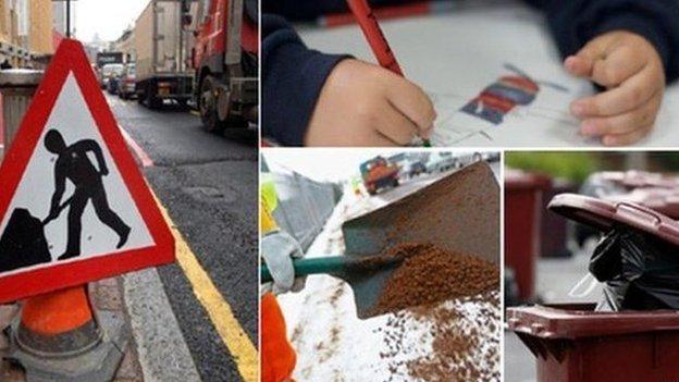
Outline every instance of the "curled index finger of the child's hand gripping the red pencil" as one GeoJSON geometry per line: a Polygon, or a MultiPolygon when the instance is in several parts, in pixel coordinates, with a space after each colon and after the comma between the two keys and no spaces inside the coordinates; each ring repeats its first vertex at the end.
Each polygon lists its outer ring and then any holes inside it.
{"type": "Polygon", "coordinates": [[[396,75],[393,76],[395,81],[386,87],[390,102],[418,127],[431,127],[436,119],[436,112],[429,96],[413,83],[396,75]]]}

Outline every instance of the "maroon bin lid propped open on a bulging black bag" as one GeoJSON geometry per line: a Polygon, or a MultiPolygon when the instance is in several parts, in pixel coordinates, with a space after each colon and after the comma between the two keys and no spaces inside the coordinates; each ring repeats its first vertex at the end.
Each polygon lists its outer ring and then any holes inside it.
{"type": "Polygon", "coordinates": [[[547,208],[570,220],[608,231],[624,224],[679,245],[679,222],[630,201],[612,201],[577,194],[559,194],[547,208]]]}

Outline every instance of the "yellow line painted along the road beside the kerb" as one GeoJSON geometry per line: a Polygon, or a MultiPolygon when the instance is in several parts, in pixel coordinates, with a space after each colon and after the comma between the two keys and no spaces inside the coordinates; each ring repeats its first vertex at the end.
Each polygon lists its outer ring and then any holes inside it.
{"type": "MultiPolygon", "coordinates": [[[[165,207],[156,195],[153,197],[174,235],[177,262],[190,282],[194,294],[202,304],[217,332],[234,357],[240,377],[246,382],[259,381],[259,354],[257,348],[235,318],[229,303],[222,297],[208,273],[198,262],[196,255],[188,247],[165,207]]],[[[254,297],[252,303],[258,304],[258,296],[254,297]]]]}

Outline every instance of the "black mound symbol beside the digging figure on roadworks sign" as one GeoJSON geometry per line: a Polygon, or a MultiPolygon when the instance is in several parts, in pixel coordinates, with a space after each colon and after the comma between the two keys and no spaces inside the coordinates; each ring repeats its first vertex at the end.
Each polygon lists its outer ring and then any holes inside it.
{"type": "Polygon", "coordinates": [[[42,222],[23,208],[12,211],[0,237],[0,273],[51,260],[42,222]]]}

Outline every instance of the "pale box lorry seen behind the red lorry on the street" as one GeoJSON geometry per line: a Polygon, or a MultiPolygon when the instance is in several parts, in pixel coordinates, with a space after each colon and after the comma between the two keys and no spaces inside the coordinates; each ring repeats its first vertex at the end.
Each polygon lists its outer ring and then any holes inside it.
{"type": "Polygon", "coordinates": [[[187,104],[193,95],[193,73],[187,72],[182,2],[150,0],[134,28],[137,99],[150,109],[163,100],[187,104]]]}

